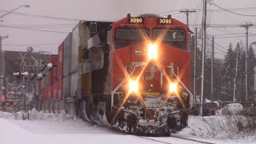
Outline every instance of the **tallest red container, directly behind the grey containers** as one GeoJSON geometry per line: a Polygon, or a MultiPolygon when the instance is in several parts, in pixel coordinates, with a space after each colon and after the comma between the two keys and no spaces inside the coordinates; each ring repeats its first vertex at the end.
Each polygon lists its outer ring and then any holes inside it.
{"type": "Polygon", "coordinates": [[[63,54],[64,54],[64,42],[58,46],[58,80],[63,78],[63,54]]]}

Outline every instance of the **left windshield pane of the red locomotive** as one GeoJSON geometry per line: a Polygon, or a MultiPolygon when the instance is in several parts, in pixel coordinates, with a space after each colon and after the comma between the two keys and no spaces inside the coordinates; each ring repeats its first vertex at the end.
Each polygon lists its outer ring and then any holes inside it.
{"type": "Polygon", "coordinates": [[[138,28],[117,28],[115,30],[115,48],[119,49],[125,46],[132,46],[143,42],[142,35],[148,36],[150,34],[149,29],[138,28]]]}

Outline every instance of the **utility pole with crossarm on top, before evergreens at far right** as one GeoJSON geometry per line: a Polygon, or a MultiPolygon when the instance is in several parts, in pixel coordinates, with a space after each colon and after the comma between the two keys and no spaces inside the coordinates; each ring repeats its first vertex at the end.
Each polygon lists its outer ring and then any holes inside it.
{"type": "Polygon", "coordinates": [[[253,24],[246,23],[242,27],[246,28],[246,102],[248,101],[248,30],[253,24]]]}

